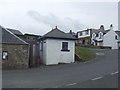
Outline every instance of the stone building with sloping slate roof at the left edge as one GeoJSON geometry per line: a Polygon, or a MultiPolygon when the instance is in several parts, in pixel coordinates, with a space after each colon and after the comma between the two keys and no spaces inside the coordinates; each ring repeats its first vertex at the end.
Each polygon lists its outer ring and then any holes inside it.
{"type": "Polygon", "coordinates": [[[29,44],[20,39],[6,28],[0,26],[2,36],[2,68],[28,68],[29,67],[29,44]]]}

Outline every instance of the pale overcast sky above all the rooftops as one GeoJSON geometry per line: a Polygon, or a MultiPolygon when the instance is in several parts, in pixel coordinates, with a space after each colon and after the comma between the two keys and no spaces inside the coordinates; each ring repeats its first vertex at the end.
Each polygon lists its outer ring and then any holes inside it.
{"type": "Polygon", "coordinates": [[[44,35],[55,26],[64,32],[109,29],[110,24],[118,30],[117,0],[0,0],[0,25],[23,34],[44,35]]]}

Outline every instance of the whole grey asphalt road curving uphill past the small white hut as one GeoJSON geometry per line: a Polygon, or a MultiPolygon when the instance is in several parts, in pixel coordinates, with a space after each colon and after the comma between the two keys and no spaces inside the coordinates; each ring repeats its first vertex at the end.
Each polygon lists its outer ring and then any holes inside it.
{"type": "Polygon", "coordinates": [[[3,88],[117,88],[118,50],[94,50],[96,58],[87,62],[4,70],[3,88]]]}

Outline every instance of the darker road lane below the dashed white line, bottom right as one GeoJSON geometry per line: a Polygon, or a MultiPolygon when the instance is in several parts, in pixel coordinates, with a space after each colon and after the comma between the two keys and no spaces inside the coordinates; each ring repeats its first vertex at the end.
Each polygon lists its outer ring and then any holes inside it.
{"type": "Polygon", "coordinates": [[[104,77],[98,77],[85,82],[77,82],[62,86],[62,88],[117,88],[118,74],[113,73],[104,77]]]}

